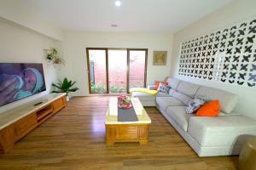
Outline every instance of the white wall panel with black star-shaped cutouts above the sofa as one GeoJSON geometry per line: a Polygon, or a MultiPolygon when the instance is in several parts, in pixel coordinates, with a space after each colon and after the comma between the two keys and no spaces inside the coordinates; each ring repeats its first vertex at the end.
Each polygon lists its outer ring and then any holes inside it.
{"type": "Polygon", "coordinates": [[[256,20],[181,43],[178,74],[256,86],[256,20]]]}

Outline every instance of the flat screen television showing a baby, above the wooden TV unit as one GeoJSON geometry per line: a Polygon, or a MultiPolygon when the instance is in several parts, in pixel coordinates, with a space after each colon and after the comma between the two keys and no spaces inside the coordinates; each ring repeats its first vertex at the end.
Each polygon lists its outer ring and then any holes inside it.
{"type": "Polygon", "coordinates": [[[0,63],[0,106],[45,90],[43,64],[0,63]]]}

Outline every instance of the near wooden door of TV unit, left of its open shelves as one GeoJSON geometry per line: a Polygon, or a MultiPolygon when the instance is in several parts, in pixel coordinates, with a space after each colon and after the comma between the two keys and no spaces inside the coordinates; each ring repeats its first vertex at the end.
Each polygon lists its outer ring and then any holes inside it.
{"type": "Polygon", "coordinates": [[[15,139],[16,141],[24,137],[27,133],[32,131],[33,128],[37,127],[38,118],[35,113],[28,115],[20,121],[15,122],[15,139]]]}

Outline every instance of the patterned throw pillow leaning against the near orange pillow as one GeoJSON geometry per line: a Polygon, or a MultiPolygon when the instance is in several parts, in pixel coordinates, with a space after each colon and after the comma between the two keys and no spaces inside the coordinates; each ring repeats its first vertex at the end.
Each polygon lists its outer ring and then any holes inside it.
{"type": "Polygon", "coordinates": [[[206,103],[206,97],[205,96],[195,96],[195,99],[191,99],[188,103],[188,106],[186,108],[186,112],[191,114],[195,113],[196,110],[198,110],[201,105],[204,105],[206,103]]]}

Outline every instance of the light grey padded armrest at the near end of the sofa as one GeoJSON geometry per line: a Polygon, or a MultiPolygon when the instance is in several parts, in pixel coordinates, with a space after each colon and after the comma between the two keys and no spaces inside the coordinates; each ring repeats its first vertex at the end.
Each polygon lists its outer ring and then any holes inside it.
{"type": "Polygon", "coordinates": [[[241,115],[193,116],[189,119],[188,133],[201,146],[243,144],[247,135],[256,135],[256,122],[241,115]]]}

